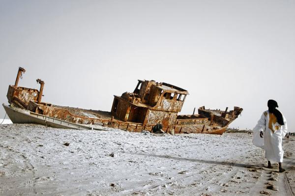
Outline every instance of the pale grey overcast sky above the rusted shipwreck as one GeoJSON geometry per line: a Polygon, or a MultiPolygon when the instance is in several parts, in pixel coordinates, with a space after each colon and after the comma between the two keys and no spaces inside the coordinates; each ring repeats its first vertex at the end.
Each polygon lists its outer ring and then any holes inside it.
{"type": "Polygon", "coordinates": [[[155,80],[189,91],[182,114],[239,106],[253,128],[275,99],[294,130],[295,1],[0,0],[1,103],[19,66],[53,104],[110,111],[155,80]]]}

